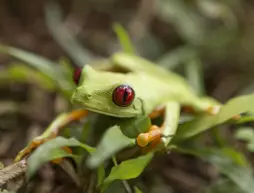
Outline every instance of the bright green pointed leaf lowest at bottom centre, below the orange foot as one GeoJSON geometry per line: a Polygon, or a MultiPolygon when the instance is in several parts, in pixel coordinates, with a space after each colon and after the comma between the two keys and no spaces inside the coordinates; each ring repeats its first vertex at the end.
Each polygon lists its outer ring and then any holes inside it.
{"type": "Polygon", "coordinates": [[[114,166],[111,169],[109,176],[103,183],[109,184],[114,180],[128,180],[138,177],[152,158],[153,153],[150,153],[135,159],[123,161],[121,164],[114,166]]]}

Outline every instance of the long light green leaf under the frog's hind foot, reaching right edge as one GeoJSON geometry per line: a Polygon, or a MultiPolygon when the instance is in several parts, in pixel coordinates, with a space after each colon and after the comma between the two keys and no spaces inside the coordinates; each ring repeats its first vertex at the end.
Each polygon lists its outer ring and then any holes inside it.
{"type": "Polygon", "coordinates": [[[173,138],[173,143],[178,143],[198,135],[201,132],[230,120],[235,115],[252,111],[254,111],[254,94],[233,98],[222,106],[217,115],[202,114],[194,120],[180,125],[173,138]]]}

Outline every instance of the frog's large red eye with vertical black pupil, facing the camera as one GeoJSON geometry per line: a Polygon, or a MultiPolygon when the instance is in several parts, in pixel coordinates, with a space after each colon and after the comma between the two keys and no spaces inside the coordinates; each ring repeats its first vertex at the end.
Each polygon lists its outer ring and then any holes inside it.
{"type": "Polygon", "coordinates": [[[120,85],[113,91],[113,102],[120,107],[127,107],[132,104],[135,92],[129,85],[120,85]]]}

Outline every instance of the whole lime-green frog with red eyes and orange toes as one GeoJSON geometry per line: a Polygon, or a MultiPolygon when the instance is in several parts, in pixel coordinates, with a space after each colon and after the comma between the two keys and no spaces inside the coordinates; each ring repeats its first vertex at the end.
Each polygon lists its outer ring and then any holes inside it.
{"type": "Polygon", "coordinates": [[[82,109],[71,112],[68,119],[52,126],[47,137],[44,135],[33,140],[30,146],[20,152],[19,158],[55,137],[63,125],[87,116],[89,111],[121,119],[142,115],[150,119],[163,116],[162,125],[152,125],[136,137],[137,145],[141,148],[148,144],[154,148],[158,144],[169,144],[177,129],[182,107],[211,115],[220,109],[217,101],[198,97],[181,76],[126,53],[114,54],[105,66],[84,65],[74,72],[73,78],[77,87],[71,101],[82,109]]]}

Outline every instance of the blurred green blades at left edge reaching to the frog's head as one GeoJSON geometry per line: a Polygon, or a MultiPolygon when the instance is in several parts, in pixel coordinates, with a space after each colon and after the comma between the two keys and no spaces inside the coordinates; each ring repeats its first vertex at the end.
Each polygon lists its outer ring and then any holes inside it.
{"type": "MultiPolygon", "coordinates": [[[[35,77],[37,82],[49,82],[46,85],[50,85],[50,87],[57,87],[59,91],[64,94],[67,98],[69,98],[73,92],[74,83],[72,80],[72,69],[67,65],[58,65],[55,62],[52,62],[44,57],[38,56],[36,54],[30,53],[28,51],[20,50],[17,48],[12,48],[9,46],[0,46],[0,52],[8,54],[26,64],[30,65],[32,68],[35,68],[40,73],[38,77],[35,77]],[[43,78],[44,76],[45,78],[43,78]],[[41,78],[40,78],[41,77],[41,78]]],[[[33,78],[36,74],[31,76],[33,72],[32,69],[28,69],[27,67],[21,66],[11,66],[7,69],[9,76],[14,79],[18,79],[23,81],[24,79],[33,78]],[[18,72],[16,70],[19,70],[18,72]],[[26,72],[25,72],[26,71],[26,72]]],[[[3,76],[4,77],[4,76],[3,76]]]]}

